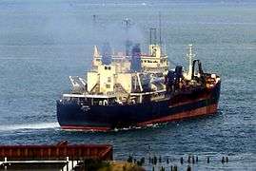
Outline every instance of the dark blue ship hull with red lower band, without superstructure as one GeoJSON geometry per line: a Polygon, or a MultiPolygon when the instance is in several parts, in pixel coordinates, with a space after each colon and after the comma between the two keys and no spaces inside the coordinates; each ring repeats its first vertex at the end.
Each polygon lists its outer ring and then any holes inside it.
{"type": "Polygon", "coordinates": [[[83,106],[76,102],[57,101],[57,119],[63,129],[91,131],[167,123],[216,113],[220,88],[219,82],[210,90],[143,104],[83,106]]]}

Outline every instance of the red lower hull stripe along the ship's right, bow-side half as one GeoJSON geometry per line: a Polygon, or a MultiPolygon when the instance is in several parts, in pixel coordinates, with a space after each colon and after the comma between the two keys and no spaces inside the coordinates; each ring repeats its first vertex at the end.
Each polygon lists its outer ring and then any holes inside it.
{"type": "Polygon", "coordinates": [[[167,123],[171,121],[182,120],[185,118],[197,117],[197,116],[207,115],[207,114],[216,113],[216,112],[217,112],[217,104],[211,104],[211,105],[200,107],[194,110],[184,111],[184,112],[172,114],[163,118],[154,119],[148,122],[138,123],[138,125],[145,126],[145,125],[154,124],[154,123],[167,123]]]}

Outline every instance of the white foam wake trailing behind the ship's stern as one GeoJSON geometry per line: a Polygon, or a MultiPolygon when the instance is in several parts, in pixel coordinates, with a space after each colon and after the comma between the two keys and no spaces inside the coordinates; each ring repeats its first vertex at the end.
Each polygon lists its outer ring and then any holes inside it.
{"type": "Polygon", "coordinates": [[[19,129],[47,129],[60,127],[59,123],[28,123],[28,124],[8,124],[0,125],[0,131],[10,131],[19,129]]]}

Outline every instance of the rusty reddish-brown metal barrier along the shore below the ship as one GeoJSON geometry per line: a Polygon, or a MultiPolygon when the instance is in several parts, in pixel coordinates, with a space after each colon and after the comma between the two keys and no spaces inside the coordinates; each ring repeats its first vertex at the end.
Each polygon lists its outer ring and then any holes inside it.
{"type": "Polygon", "coordinates": [[[112,146],[109,144],[68,144],[59,142],[55,145],[0,145],[0,161],[8,158],[21,160],[66,160],[73,161],[97,159],[111,161],[112,146]]]}

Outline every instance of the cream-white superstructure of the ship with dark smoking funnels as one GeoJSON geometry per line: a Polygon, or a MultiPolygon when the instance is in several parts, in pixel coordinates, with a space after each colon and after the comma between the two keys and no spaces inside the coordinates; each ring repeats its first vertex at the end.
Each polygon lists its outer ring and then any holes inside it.
{"type": "MultiPolygon", "coordinates": [[[[117,52],[111,54],[110,63],[103,62],[104,56],[94,46],[92,66],[86,75],[86,84],[80,88],[73,85],[73,94],[104,95],[116,97],[119,104],[141,103],[144,95],[166,91],[167,55],[162,54],[159,45],[149,45],[148,54],[141,53],[139,45],[131,49],[131,56],[117,52]]],[[[77,77],[69,77],[73,83],[77,77]]],[[[77,79],[76,79],[77,80],[77,79]]],[[[82,78],[79,81],[84,80],[82,78]]],[[[69,95],[65,95],[69,96],[69,95]]],[[[153,99],[156,99],[154,97],[153,99]]],[[[105,101],[106,102],[106,101],[105,101]]],[[[103,102],[99,102],[103,104],[103,102]]]]}

